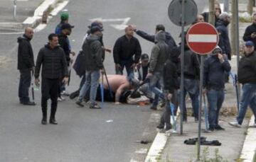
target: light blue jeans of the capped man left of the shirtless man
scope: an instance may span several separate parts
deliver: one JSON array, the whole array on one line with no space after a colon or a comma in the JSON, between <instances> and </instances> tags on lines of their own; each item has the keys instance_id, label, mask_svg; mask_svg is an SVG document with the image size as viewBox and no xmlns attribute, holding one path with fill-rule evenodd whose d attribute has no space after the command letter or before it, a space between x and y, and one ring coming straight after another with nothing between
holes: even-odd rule
<instances>
[{"instance_id":1,"label":"light blue jeans of the capped man left of the shirtless man","mask_svg":"<svg viewBox=\"0 0 256 162\"><path fill-rule=\"evenodd\" d=\"M85 79L86 80L80 90L78 100L82 102L82 99L85 98L85 94L90 88L90 104L94 105L97 95L97 86L99 85L100 71L86 71Z\"/></svg>"}]
</instances>

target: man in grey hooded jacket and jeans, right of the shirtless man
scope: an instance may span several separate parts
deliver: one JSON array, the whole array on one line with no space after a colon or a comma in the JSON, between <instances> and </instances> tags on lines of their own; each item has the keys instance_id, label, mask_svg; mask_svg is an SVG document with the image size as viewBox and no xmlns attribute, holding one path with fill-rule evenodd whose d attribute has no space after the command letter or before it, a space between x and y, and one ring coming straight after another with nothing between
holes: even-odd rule
<instances>
[{"instance_id":1,"label":"man in grey hooded jacket and jeans, right of the shirtless man","mask_svg":"<svg viewBox=\"0 0 256 162\"><path fill-rule=\"evenodd\" d=\"M155 36L155 45L151 50L151 57L149 62L149 73L147 78L149 81L149 89L155 93L155 98L151 106L152 110L156 110L159 102L159 97L164 99L164 94L160 91L161 81L163 80L164 63L166 62L169 54L169 46L165 42L165 33L160 30Z\"/></svg>"}]
</instances>

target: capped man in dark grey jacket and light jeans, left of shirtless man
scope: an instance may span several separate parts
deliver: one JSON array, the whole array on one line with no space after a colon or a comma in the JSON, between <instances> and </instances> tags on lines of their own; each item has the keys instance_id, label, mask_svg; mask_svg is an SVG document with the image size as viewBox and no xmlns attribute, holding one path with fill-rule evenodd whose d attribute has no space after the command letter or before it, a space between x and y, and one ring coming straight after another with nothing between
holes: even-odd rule
<instances>
[{"instance_id":1,"label":"capped man in dark grey jacket and light jeans, left of shirtless man","mask_svg":"<svg viewBox=\"0 0 256 162\"><path fill-rule=\"evenodd\" d=\"M100 72L103 72L103 50L100 37L102 32L99 27L95 26L90 29L91 35L89 35L84 44L82 45L82 51L85 53L85 84L80 90L77 105L83 107L82 99L85 97L86 92L90 88L90 108L100 109L100 106L95 102L97 95L97 86L100 79Z\"/></svg>"}]
</instances>

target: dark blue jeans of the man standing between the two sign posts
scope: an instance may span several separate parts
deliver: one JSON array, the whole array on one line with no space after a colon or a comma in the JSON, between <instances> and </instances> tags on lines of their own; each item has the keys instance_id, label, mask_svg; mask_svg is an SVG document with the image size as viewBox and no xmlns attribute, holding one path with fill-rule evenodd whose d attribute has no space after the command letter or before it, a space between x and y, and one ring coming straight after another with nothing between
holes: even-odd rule
<instances>
[{"instance_id":1,"label":"dark blue jeans of the man standing between the two sign posts","mask_svg":"<svg viewBox=\"0 0 256 162\"><path fill-rule=\"evenodd\" d=\"M195 119L198 120L198 110L199 110L199 85L196 79L184 79L184 90L183 90L183 119L187 119L186 110L186 94L188 93L192 101L193 115ZM181 92L179 92L179 96ZM180 102L181 103L181 102Z\"/></svg>"}]
</instances>

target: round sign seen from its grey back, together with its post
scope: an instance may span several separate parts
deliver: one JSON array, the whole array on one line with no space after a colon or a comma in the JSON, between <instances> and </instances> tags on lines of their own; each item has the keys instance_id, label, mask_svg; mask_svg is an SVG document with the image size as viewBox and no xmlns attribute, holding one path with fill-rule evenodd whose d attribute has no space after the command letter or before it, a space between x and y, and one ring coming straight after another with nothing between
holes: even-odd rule
<instances>
[{"instance_id":1,"label":"round sign seen from its grey back, together with its post","mask_svg":"<svg viewBox=\"0 0 256 162\"><path fill-rule=\"evenodd\" d=\"M180 110L181 127L180 134L183 134L183 94L184 94L184 27L196 20L198 9L193 0L173 0L168 8L168 16L175 25L181 26L181 92L180 92Z\"/></svg>"}]
</instances>

